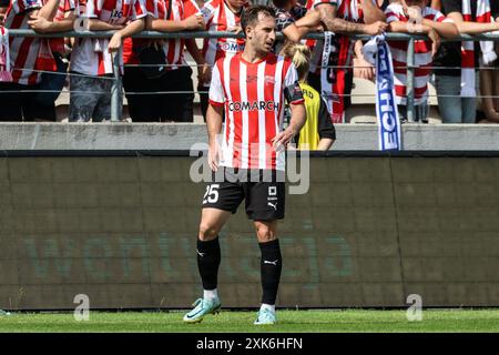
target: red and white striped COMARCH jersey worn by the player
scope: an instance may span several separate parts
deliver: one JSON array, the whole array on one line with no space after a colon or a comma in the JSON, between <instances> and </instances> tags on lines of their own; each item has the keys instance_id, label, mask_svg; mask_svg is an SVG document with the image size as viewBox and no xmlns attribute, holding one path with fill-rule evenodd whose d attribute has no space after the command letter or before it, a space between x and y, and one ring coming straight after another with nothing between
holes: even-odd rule
<instances>
[{"instance_id":1,"label":"red and white striped COMARCH jersey worn by the player","mask_svg":"<svg viewBox=\"0 0 499 355\"><path fill-rule=\"evenodd\" d=\"M289 103L304 102L288 59L268 53L249 63L240 53L216 61L210 103L225 106L221 166L284 171L284 151L271 140L283 129L285 92Z\"/></svg>"}]
</instances>

